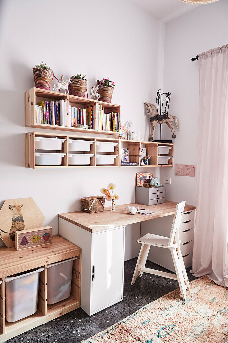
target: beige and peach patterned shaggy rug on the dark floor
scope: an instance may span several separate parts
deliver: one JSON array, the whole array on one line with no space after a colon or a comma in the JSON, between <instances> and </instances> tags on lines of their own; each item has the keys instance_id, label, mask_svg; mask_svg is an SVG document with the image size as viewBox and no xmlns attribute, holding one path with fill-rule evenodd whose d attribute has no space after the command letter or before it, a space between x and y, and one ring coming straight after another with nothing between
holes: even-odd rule
<instances>
[{"instance_id":1,"label":"beige and peach patterned shaggy rug on the dark floor","mask_svg":"<svg viewBox=\"0 0 228 343\"><path fill-rule=\"evenodd\" d=\"M203 276L140 308L84 343L228 343L228 290Z\"/></svg>"}]
</instances>

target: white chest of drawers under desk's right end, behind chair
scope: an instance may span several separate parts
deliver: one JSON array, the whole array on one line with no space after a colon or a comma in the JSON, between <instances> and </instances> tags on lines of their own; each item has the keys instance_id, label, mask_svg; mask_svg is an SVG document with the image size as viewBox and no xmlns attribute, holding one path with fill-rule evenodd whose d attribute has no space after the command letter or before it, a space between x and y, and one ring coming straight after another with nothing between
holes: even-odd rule
<instances>
[{"instance_id":1,"label":"white chest of drawers under desk's right end, behind chair","mask_svg":"<svg viewBox=\"0 0 228 343\"><path fill-rule=\"evenodd\" d=\"M141 222L141 236L147 233L169 237L170 230L173 223L173 215L153 220ZM179 238L181 240L180 250L185 262L185 267L188 268L192 265L192 252L194 244L195 233L195 210L184 212L179 229ZM173 260L169 249L159 247L150 247L148 260L162 267L175 272Z\"/></svg>"}]
</instances>

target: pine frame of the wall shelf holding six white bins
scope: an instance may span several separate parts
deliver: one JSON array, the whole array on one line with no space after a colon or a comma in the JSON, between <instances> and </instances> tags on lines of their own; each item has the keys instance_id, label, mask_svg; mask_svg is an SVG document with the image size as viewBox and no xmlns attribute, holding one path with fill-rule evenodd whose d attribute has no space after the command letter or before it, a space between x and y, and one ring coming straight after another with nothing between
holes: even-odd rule
<instances>
[{"instance_id":1,"label":"pine frame of the wall shelf holding six white bins","mask_svg":"<svg viewBox=\"0 0 228 343\"><path fill-rule=\"evenodd\" d=\"M65 153L66 155L62 158L62 164L61 165L48 165L48 166L41 166L35 164L35 152L36 151L36 137L58 137L66 139L65 142L62 145L62 151L59 151L59 153ZM90 151L85 152L85 154L92 154L93 157L90 158L90 165L69 165L68 162L68 155L69 155L69 140L75 139L75 140L89 140L94 141L93 144L91 144ZM97 156L97 144L96 142L115 142L117 145L114 148L113 153L106 153L107 155L117 155L117 157L114 158L114 164L113 165L96 165L96 156ZM46 132L26 132L25 133L25 167L26 168L101 168L101 167L119 167L119 145L120 140L115 138L102 138L102 137L86 137L86 136L79 136L79 135L62 135L62 134L56 134L56 133L46 133ZM38 152L41 152L41 150L38 150ZM46 152L43 151L43 152ZM50 150L50 152L53 152ZM74 152L72 152L74 153ZM79 153L79 152L78 152ZM83 153L83 152L80 152ZM98 152L98 154L100 154Z\"/></svg>"}]
</instances>

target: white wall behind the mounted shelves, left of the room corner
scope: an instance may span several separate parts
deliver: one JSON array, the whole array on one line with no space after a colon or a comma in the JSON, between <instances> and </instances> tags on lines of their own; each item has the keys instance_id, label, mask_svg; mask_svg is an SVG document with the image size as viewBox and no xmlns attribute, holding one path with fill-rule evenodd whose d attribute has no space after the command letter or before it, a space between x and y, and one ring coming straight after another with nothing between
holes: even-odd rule
<instances>
[{"instance_id":1,"label":"white wall behind the mounted shelves, left of the room corner","mask_svg":"<svg viewBox=\"0 0 228 343\"><path fill-rule=\"evenodd\" d=\"M34 130L24 127L24 92L34 86L32 68L41 61L57 77L86 74L89 90L97 79L110 78L122 124L132 120L132 130L147 140L144 101L152 102L159 88L162 30L125 0L1 1L0 206L33 197L44 225L57 234L58 213L80 210L81 197L100 194L109 182L117 185L118 204L135 200L136 168L24 168L24 132ZM153 173L159 176L159 168Z\"/></svg>"}]
</instances>

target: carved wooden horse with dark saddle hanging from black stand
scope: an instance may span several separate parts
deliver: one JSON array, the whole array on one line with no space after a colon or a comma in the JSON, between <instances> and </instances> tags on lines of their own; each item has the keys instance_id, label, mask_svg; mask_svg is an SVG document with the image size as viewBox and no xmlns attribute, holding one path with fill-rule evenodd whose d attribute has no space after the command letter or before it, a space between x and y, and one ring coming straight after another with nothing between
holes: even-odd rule
<instances>
[{"instance_id":1,"label":"carved wooden horse with dark saddle hanging from black stand","mask_svg":"<svg viewBox=\"0 0 228 343\"><path fill-rule=\"evenodd\" d=\"M156 106L154 106L153 104L146 103L146 102L144 104L147 106L146 113L147 113L147 116L150 115L150 122L151 122L151 134L150 134L149 142L153 141L154 130L157 123L159 124L166 123L168 127L170 128L170 130L172 131L172 137L177 138L176 132L173 126L173 120L175 120L177 130L179 131L177 117L171 116L171 114L169 113L167 114L165 113L160 116L159 114L157 114Z\"/></svg>"}]
</instances>

